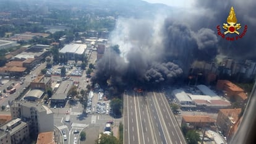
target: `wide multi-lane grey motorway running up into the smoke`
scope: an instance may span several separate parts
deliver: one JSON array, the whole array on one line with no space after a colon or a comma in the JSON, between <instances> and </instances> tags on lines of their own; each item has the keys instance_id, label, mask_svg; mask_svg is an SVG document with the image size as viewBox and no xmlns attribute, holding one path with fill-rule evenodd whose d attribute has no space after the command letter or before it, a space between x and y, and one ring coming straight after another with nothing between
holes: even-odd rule
<instances>
[{"instance_id":1,"label":"wide multi-lane grey motorway running up into the smoke","mask_svg":"<svg viewBox=\"0 0 256 144\"><path fill-rule=\"evenodd\" d=\"M163 93L124 93L124 143L186 143Z\"/></svg>"}]
</instances>

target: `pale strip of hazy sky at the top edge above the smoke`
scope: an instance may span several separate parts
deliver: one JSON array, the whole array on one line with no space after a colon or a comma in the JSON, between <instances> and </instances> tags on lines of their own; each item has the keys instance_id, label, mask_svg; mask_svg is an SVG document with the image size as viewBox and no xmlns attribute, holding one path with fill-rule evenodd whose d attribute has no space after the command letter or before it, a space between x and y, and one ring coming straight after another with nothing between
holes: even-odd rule
<instances>
[{"instance_id":1,"label":"pale strip of hazy sky at the top edge above the smoke","mask_svg":"<svg viewBox=\"0 0 256 144\"><path fill-rule=\"evenodd\" d=\"M191 7L195 0L143 0L150 3L162 3L174 7Z\"/></svg>"}]
</instances>

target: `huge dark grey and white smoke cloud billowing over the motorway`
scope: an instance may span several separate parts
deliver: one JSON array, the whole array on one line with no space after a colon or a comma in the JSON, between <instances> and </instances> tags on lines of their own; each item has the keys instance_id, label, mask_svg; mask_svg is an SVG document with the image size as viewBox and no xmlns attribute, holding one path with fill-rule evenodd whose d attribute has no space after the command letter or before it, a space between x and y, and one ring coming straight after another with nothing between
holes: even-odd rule
<instances>
[{"instance_id":1,"label":"huge dark grey and white smoke cloud billowing over the motorway","mask_svg":"<svg viewBox=\"0 0 256 144\"><path fill-rule=\"evenodd\" d=\"M119 45L121 54L107 49L98 62L93 81L152 86L186 77L194 61L211 61L217 54L255 59L255 3L197 1L194 9L182 9L171 16L119 18L109 41ZM248 26L244 38L237 41L224 40L216 30L217 25L222 27L226 22L231 6L242 30L245 24Z\"/></svg>"}]
</instances>

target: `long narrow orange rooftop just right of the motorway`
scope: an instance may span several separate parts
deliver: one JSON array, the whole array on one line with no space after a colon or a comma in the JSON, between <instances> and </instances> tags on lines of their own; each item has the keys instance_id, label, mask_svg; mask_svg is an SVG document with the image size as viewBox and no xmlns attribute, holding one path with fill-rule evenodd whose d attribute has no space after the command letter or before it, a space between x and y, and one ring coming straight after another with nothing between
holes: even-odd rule
<instances>
[{"instance_id":1,"label":"long narrow orange rooftop just right of the motorway","mask_svg":"<svg viewBox=\"0 0 256 144\"><path fill-rule=\"evenodd\" d=\"M215 122L210 116L183 116L185 122Z\"/></svg>"}]
</instances>

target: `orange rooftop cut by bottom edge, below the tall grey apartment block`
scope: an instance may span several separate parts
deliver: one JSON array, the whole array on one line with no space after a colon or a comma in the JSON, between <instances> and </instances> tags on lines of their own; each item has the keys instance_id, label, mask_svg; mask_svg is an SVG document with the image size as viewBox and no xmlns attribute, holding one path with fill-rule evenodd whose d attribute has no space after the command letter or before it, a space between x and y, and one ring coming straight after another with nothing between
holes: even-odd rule
<instances>
[{"instance_id":1,"label":"orange rooftop cut by bottom edge, below the tall grey apartment block","mask_svg":"<svg viewBox=\"0 0 256 144\"><path fill-rule=\"evenodd\" d=\"M55 144L53 132L41 132L38 134L36 144Z\"/></svg>"}]
</instances>

